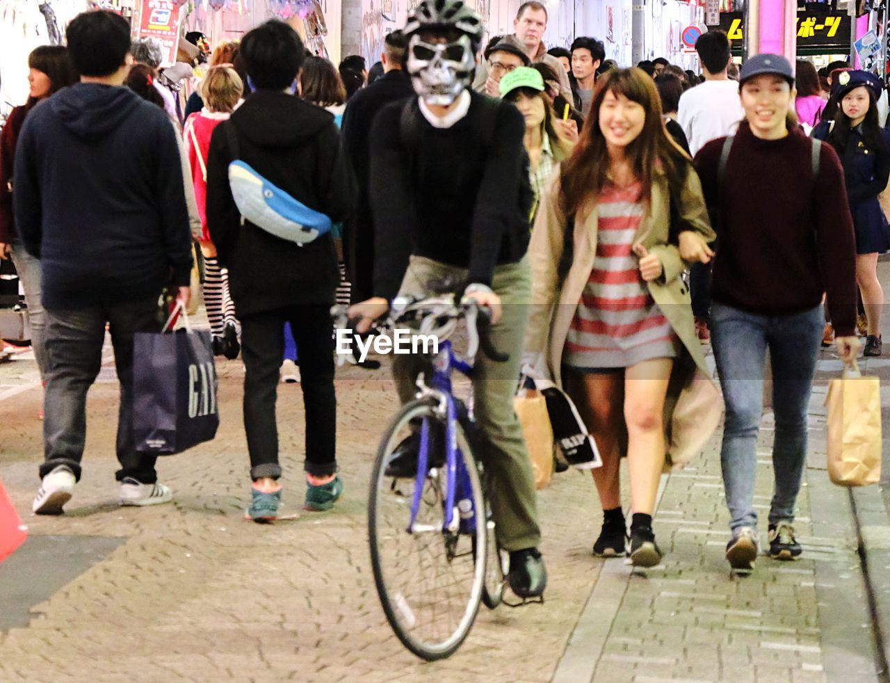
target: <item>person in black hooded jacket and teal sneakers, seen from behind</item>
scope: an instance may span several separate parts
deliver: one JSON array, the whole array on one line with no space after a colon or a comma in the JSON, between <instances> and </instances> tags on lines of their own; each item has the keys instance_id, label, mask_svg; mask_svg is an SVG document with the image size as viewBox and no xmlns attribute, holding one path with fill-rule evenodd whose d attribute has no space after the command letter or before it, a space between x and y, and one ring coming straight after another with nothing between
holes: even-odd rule
<instances>
[{"instance_id":1,"label":"person in black hooded jacket and teal sneakers, seen from behind","mask_svg":"<svg viewBox=\"0 0 890 683\"><path fill-rule=\"evenodd\" d=\"M293 95L303 63L293 28L267 21L241 41L254 93L214 130L207 159L207 227L220 263L229 269L241 319L244 427L254 481L247 516L278 515L281 476L276 386L290 322L300 350L306 411L305 508L331 508L343 492L336 476L334 340L330 306L340 282L330 232L303 246L243 220L232 197L229 165L243 160L282 191L330 217L347 218L355 182L334 117ZM234 136L237 151L231 149Z\"/></svg>"}]
</instances>

